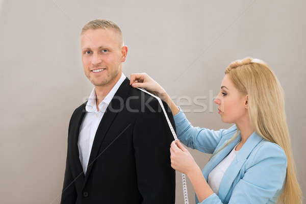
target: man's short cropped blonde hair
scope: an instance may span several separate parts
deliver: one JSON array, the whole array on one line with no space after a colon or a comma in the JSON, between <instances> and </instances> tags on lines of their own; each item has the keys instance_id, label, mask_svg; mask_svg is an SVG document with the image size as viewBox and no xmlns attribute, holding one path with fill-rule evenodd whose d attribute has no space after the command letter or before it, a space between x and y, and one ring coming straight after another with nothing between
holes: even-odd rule
<instances>
[{"instance_id":1,"label":"man's short cropped blonde hair","mask_svg":"<svg viewBox=\"0 0 306 204\"><path fill-rule=\"evenodd\" d=\"M89 21L84 25L81 31L81 35L84 34L87 30L95 30L95 29L113 29L116 33L119 34L121 44L123 45L123 37L122 37L122 32L119 26L111 21L111 20L106 20L106 19L95 19L92 21Z\"/></svg>"}]
</instances>

